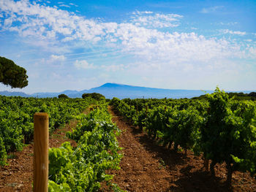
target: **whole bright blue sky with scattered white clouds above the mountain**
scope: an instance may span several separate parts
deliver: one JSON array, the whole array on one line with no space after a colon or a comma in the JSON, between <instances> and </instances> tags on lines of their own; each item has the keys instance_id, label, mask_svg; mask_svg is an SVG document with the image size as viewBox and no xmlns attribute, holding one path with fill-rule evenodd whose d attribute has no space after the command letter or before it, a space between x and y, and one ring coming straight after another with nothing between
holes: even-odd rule
<instances>
[{"instance_id":1,"label":"whole bright blue sky with scattered white clouds above the mountain","mask_svg":"<svg viewBox=\"0 0 256 192\"><path fill-rule=\"evenodd\" d=\"M256 90L256 1L0 0L0 56L60 92L116 82Z\"/></svg>"}]
</instances>

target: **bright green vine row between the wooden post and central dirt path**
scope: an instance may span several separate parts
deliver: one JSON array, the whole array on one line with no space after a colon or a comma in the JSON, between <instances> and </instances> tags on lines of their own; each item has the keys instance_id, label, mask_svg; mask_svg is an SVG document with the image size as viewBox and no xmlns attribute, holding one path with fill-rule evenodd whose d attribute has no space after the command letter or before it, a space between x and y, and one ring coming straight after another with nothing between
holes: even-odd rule
<instances>
[{"instance_id":1,"label":"bright green vine row between the wooden post and central dirt path","mask_svg":"<svg viewBox=\"0 0 256 192\"><path fill-rule=\"evenodd\" d=\"M108 169L119 169L121 154L116 139L118 128L111 122L106 104L100 104L89 115L78 115L78 124L67 137L78 146L65 142L49 150L49 191L97 191L100 182L121 191L109 181Z\"/></svg>"}]
</instances>

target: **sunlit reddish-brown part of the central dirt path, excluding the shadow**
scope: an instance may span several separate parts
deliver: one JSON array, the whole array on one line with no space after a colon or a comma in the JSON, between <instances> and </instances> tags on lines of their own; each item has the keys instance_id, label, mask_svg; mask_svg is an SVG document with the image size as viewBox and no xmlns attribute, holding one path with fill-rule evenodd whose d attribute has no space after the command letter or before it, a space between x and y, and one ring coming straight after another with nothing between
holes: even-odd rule
<instances>
[{"instance_id":1,"label":"sunlit reddish-brown part of the central dirt path, excluding the shadow","mask_svg":"<svg viewBox=\"0 0 256 192\"><path fill-rule=\"evenodd\" d=\"M127 191L168 191L172 178L156 154L146 150L139 141L143 133L137 128L130 128L113 110L110 112L113 123L122 131L118 137L119 146L124 147L121 169L112 172L116 174L113 183Z\"/></svg>"}]
</instances>

